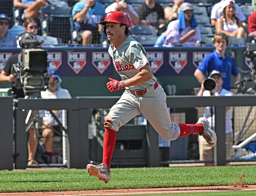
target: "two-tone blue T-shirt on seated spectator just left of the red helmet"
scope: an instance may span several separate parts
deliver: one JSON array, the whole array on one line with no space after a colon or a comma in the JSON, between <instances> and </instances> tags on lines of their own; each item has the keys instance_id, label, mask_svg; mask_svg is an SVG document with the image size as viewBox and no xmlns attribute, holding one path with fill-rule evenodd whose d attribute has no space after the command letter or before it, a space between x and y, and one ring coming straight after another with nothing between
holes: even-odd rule
<instances>
[{"instance_id":1,"label":"two-tone blue T-shirt on seated spectator just left of the red helmet","mask_svg":"<svg viewBox=\"0 0 256 196\"><path fill-rule=\"evenodd\" d=\"M93 8L89 8L83 23L76 22L76 13L83 10L85 1L77 2L72 10L72 17L74 19L75 28L80 30L98 30L99 22L105 18L105 7L99 2L95 2Z\"/></svg>"}]
</instances>

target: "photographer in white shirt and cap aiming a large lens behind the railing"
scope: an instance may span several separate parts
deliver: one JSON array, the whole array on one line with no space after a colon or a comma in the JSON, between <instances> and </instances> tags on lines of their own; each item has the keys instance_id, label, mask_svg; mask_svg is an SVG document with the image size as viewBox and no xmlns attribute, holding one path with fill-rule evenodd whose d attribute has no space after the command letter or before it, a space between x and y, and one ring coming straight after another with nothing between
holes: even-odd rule
<instances>
[{"instance_id":1,"label":"photographer in white shirt and cap aiming a large lens behind the railing","mask_svg":"<svg viewBox=\"0 0 256 196\"><path fill-rule=\"evenodd\" d=\"M232 96L233 92L228 91L222 88L223 79L220 71L213 70L210 75L216 81L216 87L212 91L206 91L204 89L204 81L201 84L201 89L198 92L197 96ZM233 145L233 129L232 129L232 112L233 107L226 107L226 116L225 116L225 133L226 133L226 159L230 160L232 156L232 145ZM210 127L215 129L215 113L214 107L205 107L204 108L204 117L210 122ZM205 142L204 138L198 137L199 144L199 155L200 161L206 161L205 166L213 166L213 163L207 163L207 161L212 161L213 158L213 149ZM227 163L229 165L229 163Z\"/></svg>"}]
</instances>

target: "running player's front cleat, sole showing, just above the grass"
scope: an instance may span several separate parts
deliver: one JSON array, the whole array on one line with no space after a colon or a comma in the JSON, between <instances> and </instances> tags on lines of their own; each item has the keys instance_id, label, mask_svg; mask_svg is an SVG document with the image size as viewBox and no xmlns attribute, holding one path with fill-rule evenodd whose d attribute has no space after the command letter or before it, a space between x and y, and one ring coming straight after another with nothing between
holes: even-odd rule
<instances>
[{"instance_id":1,"label":"running player's front cleat, sole showing, just above the grass","mask_svg":"<svg viewBox=\"0 0 256 196\"><path fill-rule=\"evenodd\" d=\"M99 180L102 180L105 183L108 183L108 181L110 180L111 171L103 163L98 165L88 164L86 166L86 169L90 176L96 176L97 178L99 178Z\"/></svg>"}]
</instances>

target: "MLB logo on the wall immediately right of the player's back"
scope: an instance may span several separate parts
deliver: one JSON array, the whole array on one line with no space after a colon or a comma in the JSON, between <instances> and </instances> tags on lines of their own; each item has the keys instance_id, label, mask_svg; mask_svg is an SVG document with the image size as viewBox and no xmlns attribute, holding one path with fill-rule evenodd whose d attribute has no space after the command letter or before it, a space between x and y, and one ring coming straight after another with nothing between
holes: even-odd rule
<instances>
[{"instance_id":1,"label":"MLB logo on the wall immediately right of the player's back","mask_svg":"<svg viewBox=\"0 0 256 196\"><path fill-rule=\"evenodd\" d=\"M164 62L164 53L163 52L147 52L148 62L152 69L152 72L155 74L156 71L163 65Z\"/></svg>"}]
</instances>

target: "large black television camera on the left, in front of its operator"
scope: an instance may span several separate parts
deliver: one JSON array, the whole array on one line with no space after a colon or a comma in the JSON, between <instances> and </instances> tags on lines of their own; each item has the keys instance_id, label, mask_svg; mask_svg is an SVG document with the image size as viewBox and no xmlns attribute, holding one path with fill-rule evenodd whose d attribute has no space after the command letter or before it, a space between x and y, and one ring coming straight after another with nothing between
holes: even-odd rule
<instances>
[{"instance_id":1,"label":"large black television camera on the left, in front of its operator","mask_svg":"<svg viewBox=\"0 0 256 196\"><path fill-rule=\"evenodd\" d=\"M18 63L12 65L12 72L20 80L25 98L39 98L40 92L46 90L49 81L47 51L41 48L42 43L34 39L31 33L26 33L30 35L25 36L23 34L19 38L21 53Z\"/></svg>"}]
</instances>

